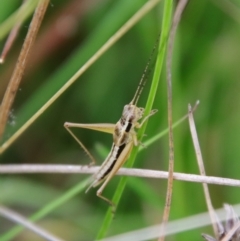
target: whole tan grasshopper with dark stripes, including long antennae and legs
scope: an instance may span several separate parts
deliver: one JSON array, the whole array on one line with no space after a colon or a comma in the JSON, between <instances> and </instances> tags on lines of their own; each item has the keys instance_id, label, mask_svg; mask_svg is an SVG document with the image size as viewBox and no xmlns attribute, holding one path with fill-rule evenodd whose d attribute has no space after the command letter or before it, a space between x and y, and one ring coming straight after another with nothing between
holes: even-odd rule
<instances>
[{"instance_id":1,"label":"whole tan grasshopper with dark stripes, including long antennae and legs","mask_svg":"<svg viewBox=\"0 0 240 241\"><path fill-rule=\"evenodd\" d=\"M103 124L103 123L80 124L80 123L70 123L70 122L64 123L64 127L67 129L67 131L79 143L79 145L84 149L84 151L92 160L90 165L93 165L96 163L94 157L83 145L83 143L75 136L75 134L73 134L70 128L72 127L87 128L91 130L110 133L113 135L113 144L112 144L111 151L106 157L101 167L99 168L99 170L95 174L93 174L92 183L86 190L87 192L90 188L97 187L101 183L103 183L102 186L97 190L96 194L98 197L105 200L111 206L114 206L113 202L108 198L104 197L102 195L102 192L106 187L106 185L108 184L108 182L119 170L119 168L126 162L126 160L128 159L132 151L133 146L138 146L139 144L141 144L137 139L137 133L135 131L135 128L140 129L143 126L144 122L150 116L154 115L157 112L157 110L152 110L150 114L148 114L143 118L144 108L137 107L138 99L142 93L142 90L146 82L144 79L145 79L145 75L146 75L150 60L151 60L151 57L144 70L142 78L140 79L138 88L135 92L135 95L132 101L129 104L124 106L122 116L116 124Z\"/></svg>"}]
</instances>

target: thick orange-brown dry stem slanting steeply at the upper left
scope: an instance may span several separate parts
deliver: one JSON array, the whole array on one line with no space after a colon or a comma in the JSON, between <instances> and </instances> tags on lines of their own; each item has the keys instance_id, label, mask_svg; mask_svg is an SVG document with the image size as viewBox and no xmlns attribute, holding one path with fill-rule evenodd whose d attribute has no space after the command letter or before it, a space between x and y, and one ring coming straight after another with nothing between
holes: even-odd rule
<instances>
[{"instance_id":1,"label":"thick orange-brown dry stem slanting steeply at the upper left","mask_svg":"<svg viewBox=\"0 0 240 241\"><path fill-rule=\"evenodd\" d=\"M25 38L23 47L17 60L16 67L3 97L0 109L0 139L2 138L10 109L12 107L16 93L19 89L19 85L27 65L28 56L38 33L45 11L47 9L48 2L49 0L40 1L36 8L28 34Z\"/></svg>"}]
</instances>

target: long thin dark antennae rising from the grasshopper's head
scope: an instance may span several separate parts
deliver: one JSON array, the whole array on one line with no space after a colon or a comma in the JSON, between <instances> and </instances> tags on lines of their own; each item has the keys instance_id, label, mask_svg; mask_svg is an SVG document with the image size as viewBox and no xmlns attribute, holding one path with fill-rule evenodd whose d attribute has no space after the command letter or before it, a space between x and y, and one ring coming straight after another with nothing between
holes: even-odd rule
<instances>
[{"instance_id":1,"label":"long thin dark antennae rising from the grasshopper's head","mask_svg":"<svg viewBox=\"0 0 240 241\"><path fill-rule=\"evenodd\" d=\"M158 44L159 38L160 38L160 35L158 36L157 41L156 41L156 43L155 43L155 45L154 45L154 47L152 49L151 55L150 55L150 57L148 59L147 65L146 65L146 67L145 67L145 69L143 71L143 75L142 75L142 77L141 77L141 79L139 81L139 84L138 84L137 90L135 92L135 95L134 95L132 101L130 102L133 105L137 104L138 99L139 99L139 97L140 97L140 95L141 95L141 93L143 91L143 88L144 88L146 82L147 82L147 79L148 79L147 77L148 77L148 74L149 74L149 72L148 72L149 65L150 65L150 63L152 61L153 54L154 54L154 52L155 52L155 50L157 48L157 44Z\"/></svg>"}]
</instances>

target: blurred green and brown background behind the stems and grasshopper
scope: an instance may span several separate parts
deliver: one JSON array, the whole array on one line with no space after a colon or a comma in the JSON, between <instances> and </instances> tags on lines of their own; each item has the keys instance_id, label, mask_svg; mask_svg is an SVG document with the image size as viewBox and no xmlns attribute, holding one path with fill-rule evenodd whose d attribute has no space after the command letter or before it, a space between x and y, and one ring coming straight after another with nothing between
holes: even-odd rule
<instances>
[{"instance_id":1,"label":"blurred green and brown background behind the stems and grasshopper","mask_svg":"<svg viewBox=\"0 0 240 241\"><path fill-rule=\"evenodd\" d=\"M143 0L51 1L4 139L34 114L144 3ZM238 179L240 15L237 13L240 3L226 3L192 0L184 11L173 56L173 116L175 121L178 120L187 113L188 103L200 100L195 121L206 172L211 176ZM18 7L17 0L1 2L0 21L7 19ZM163 3L143 17L92 65L3 153L1 163L87 164L87 156L63 128L63 123L115 123L119 119L123 106L135 93L161 31L162 9ZM0 66L1 96L11 77L29 23L30 19L24 22L5 64ZM4 40L0 44L2 48ZM144 140L167 128L165 68L163 72L154 103L159 112L150 119ZM145 105L149 86L148 82L140 106ZM101 164L104 160L102 149L110 149L111 135L82 129L74 130L74 133ZM174 145L175 171L197 174L187 121L174 130ZM135 167L167 170L168 137L138 155ZM85 177L77 174L2 175L0 202L29 216ZM112 196L118 181L119 177L114 177L104 190L105 196ZM166 184L166 180L129 178L108 235L159 223ZM237 188L216 185L209 188L215 208L222 207L223 203L239 203ZM65 240L93 240L107 210L106 203L97 198L95 192L92 189L87 194L79 193L38 223ZM174 182L171 220L205 211L200 184ZM11 227L11 222L0 218L0 235ZM201 232L211 233L212 230L192 230L167 240L202 240ZM25 231L14 240L42 240L31 235Z\"/></svg>"}]
</instances>

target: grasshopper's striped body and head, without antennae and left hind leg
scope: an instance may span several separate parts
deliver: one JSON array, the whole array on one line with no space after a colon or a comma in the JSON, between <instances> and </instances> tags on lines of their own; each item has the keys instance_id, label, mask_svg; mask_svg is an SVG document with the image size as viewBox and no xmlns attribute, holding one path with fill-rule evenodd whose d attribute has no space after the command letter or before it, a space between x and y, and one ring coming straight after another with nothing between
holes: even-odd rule
<instances>
[{"instance_id":1,"label":"grasshopper's striped body and head, without antennae and left hind leg","mask_svg":"<svg viewBox=\"0 0 240 241\"><path fill-rule=\"evenodd\" d=\"M157 110L153 110L144 120L139 124L139 120L143 117L144 108L139 108L136 105L125 105L120 120L116 123L113 132L113 144L110 153L99 168L99 170L92 176L92 183L86 192L92 188L97 187L102 182L104 184L97 191L97 195L107 201L109 204L113 203L101 195L103 189L112 175L125 163L133 148L133 145L139 144L137 140L136 131L134 128L140 128L145 120L151 115L155 114Z\"/></svg>"}]
</instances>

